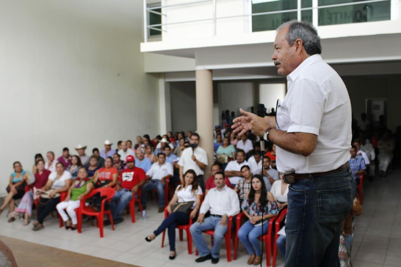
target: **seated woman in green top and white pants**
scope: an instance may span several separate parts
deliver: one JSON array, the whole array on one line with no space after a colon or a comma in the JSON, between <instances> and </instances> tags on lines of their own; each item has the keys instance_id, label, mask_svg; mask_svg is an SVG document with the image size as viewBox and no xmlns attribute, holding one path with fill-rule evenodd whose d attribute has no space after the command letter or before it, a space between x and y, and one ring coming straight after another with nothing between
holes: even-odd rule
<instances>
[{"instance_id":1,"label":"seated woman in green top and white pants","mask_svg":"<svg viewBox=\"0 0 401 267\"><path fill-rule=\"evenodd\" d=\"M78 178L68 189L67 197L56 205L57 212L63 218L67 230L77 230L78 221L75 209L79 208L81 199L93 189L93 180L87 180L87 177L86 169L84 167L79 168Z\"/></svg>"}]
</instances>

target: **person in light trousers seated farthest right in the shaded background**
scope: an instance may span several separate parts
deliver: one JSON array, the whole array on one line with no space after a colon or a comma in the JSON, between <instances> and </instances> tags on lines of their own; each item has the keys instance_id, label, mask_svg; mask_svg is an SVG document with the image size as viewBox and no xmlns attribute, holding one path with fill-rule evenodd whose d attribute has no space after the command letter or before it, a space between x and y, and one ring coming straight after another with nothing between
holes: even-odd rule
<instances>
[{"instance_id":1,"label":"person in light trousers seated farthest right in the shaded background","mask_svg":"<svg viewBox=\"0 0 401 267\"><path fill-rule=\"evenodd\" d=\"M383 138L377 143L377 148L379 149L377 160L379 160L380 176L385 177L387 168L389 168L389 165L393 161L393 151L395 148L395 142L391 138L389 130L383 133Z\"/></svg>"}]
</instances>

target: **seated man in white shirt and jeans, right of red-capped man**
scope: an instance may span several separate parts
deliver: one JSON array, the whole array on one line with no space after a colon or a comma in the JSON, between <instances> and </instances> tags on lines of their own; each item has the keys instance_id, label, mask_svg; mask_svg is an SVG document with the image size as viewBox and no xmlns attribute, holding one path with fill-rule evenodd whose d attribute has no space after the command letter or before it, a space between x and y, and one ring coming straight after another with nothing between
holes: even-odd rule
<instances>
[{"instance_id":1,"label":"seated man in white shirt and jeans, right of red-capped man","mask_svg":"<svg viewBox=\"0 0 401 267\"><path fill-rule=\"evenodd\" d=\"M157 189L157 195L159 198L159 210L158 212L164 211L165 200L164 200L164 187L166 186L166 179L173 175L173 166L166 162L166 155L164 153L159 153L157 155L158 162L152 164L150 170L146 172L146 180L148 182L142 186L142 208L146 209L146 197L148 192L152 192Z\"/></svg>"}]
</instances>

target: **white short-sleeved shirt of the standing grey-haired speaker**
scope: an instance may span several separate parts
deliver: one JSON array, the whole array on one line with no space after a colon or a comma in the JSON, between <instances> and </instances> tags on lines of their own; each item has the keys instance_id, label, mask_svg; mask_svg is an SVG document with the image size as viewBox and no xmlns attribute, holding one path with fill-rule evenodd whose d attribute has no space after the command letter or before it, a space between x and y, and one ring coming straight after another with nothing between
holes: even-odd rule
<instances>
[{"instance_id":1,"label":"white short-sleeved shirt of the standing grey-haired speaker","mask_svg":"<svg viewBox=\"0 0 401 267\"><path fill-rule=\"evenodd\" d=\"M351 102L340 76L313 55L287 76L288 92L277 105L277 129L316 134L308 157L276 147L277 170L285 174L334 170L350 158Z\"/></svg>"}]
</instances>

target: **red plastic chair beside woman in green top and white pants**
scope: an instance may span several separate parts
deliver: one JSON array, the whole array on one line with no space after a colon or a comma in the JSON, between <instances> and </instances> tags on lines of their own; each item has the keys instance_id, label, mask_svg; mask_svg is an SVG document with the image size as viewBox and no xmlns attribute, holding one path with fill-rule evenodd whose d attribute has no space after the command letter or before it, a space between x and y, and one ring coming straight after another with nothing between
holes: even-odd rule
<instances>
[{"instance_id":1,"label":"red plastic chair beside woman in green top and white pants","mask_svg":"<svg viewBox=\"0 0 401 267\"><path fill-rule=\"evenodd\" d=\"M88 198L93 197L95 194L99 193L100 196L105 196L101 202L101 210L99 212L95 212L91 209L90 206L85 206L85 202ZM109 187L101 187L92 190L89 194L84 196L81 200L81 204L79 208L76 209L77 218L78 218L78 233L82 232L82 215L88 216L96 216L97 219L97 227L99 227L100 237L103 237L103 218L104 214L107 214L111 223L111 229L114 231L114 223L113 223L113 216L111 216L111 210L104 210L104 203L109 201L114 196L115 190Z\"/></svg>"}]
</instances>

